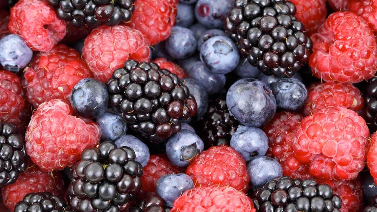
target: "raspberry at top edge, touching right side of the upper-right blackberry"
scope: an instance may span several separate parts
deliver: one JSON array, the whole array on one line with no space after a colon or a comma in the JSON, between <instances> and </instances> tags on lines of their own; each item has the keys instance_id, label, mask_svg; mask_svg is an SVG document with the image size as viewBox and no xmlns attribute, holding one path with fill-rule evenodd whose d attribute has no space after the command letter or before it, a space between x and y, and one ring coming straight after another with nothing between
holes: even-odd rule
<instances>
[{"instance_id":1,"label":"raspberry at top edge, touching right side of the upper-right blackberry","mask_svg":"<svg viewBox=\"0 0 377 212\"><path fill-rule=\"evenodd\" d=\"M296 5L296 18L308 35L316 33L327 17L326 0L291 0Z\"/></svg>"}]
</instances>

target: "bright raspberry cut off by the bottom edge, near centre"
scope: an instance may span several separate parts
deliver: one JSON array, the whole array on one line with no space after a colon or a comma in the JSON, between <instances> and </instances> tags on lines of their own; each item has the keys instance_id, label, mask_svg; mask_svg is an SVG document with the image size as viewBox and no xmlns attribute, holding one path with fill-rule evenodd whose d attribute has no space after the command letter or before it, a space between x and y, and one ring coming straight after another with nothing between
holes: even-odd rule
<instances>
[{"instance_id":1,"label":"bright raspberry cut off by the bottom edge, near centre","mask_svg":"<svg viewBox=\"0 0 377 212\"><path fill-rule=\"evenodd\" d=\"M172 212L256 212L253 202L232 187L195 187L176 198Z\"/></svg>"}]
</instances>

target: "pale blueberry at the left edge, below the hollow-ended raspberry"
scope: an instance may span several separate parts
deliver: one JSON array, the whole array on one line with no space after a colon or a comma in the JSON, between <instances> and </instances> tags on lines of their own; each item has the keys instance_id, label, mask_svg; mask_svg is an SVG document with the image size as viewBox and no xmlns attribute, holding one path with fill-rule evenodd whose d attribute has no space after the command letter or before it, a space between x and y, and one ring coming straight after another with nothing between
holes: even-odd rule
<instances>
[{"instance_id":1,"label":"pale blueberry at the left edge, below the hollow-ended raspberry","mask_svg":"<svg viewBox=\"0 0 377 212\"><path fill-rule=\"evenodd\" d=\"M31 60L33 51L18 35L6 35L0 40L0 63L9 71L18 72Z\"/></svg>"}]
</instances>

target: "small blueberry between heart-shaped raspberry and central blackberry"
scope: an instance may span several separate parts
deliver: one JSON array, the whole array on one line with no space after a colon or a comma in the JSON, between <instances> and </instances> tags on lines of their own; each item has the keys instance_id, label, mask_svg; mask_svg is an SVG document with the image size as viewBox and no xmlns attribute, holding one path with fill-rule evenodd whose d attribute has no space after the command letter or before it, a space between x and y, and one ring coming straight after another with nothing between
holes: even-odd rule
<instances>
[{"instance_id":1,"label":"small blueberry between heart-shaped raspberry and central blackberry","mask_svg":"<svg viewBox=\"0 0 377 212\"><path fill-rule=\"evenodd\" d=\"M115 141L127 132L127 124L118 114L105 112L96 122L101 128L101 141Z\"/></svg>"}]
</instances>

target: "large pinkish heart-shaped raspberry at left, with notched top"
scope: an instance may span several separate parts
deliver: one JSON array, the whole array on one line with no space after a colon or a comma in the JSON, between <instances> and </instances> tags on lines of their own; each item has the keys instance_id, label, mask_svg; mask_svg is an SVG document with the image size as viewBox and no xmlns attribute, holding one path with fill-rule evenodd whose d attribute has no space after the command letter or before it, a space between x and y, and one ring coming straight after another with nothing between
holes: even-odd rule
<instances>
[{"instance_id":1,"label":"large pinkish heart-shaped raspberry at left, with notched top","mask_svg":"<svg viewBox=\"0 0 377 212\"><path fill-rule=\"evenodd\" d=\"M26 153L42 171L62 170L79 160L85 149L97 146L100 137L97 123L75 117L70 104L52 99L31 117Z\"/></svg>"}]
</instances>

